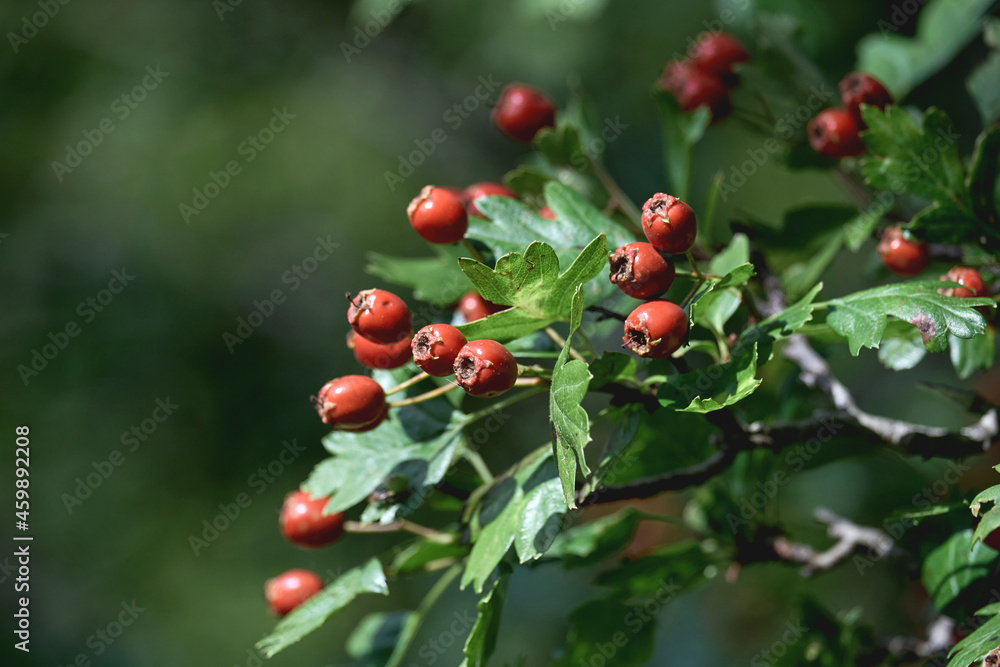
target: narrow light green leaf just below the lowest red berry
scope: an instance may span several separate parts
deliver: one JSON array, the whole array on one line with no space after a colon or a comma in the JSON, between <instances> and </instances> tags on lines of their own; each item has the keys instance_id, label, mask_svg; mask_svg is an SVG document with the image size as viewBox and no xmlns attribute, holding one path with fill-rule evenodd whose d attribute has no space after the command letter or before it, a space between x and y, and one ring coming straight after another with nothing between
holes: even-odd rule
<instances>
[{"instance_id":1,"label":"narrow light green leaf just below the lowest red berry","mask_svg":"<svg viewBox=\"0 0 1000 667\"><path fill-rule=\"evenodd\" d=\"M389 594L385 574L377 558L348 570L332 584L296 607L278 622L270 635L257 642L256 648L268 658L274 657L323 625L332 614L364 593Z\"/></svg>"}]
</instances>

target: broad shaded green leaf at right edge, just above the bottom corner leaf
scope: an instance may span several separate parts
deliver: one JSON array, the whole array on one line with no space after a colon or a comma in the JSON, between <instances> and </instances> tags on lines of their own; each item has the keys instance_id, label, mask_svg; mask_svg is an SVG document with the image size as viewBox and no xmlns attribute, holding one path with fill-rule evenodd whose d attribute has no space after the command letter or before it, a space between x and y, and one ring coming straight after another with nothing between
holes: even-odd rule
<instances>
[{"instance_id":1,"label":"broad shaded green leaf at right edge, just above the bottom corner leaf","mask_svg":"<svg viewBox=\"0 0 1000 667\"><path fill-rule=\"evenodd\" d=\"M1000 556L982 543L973 543L972 531L955 533L924 559L921 581L944 612L973 582L988 576Z\"/></svg>"}]
</instances>

